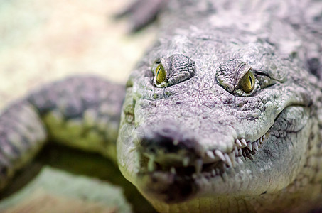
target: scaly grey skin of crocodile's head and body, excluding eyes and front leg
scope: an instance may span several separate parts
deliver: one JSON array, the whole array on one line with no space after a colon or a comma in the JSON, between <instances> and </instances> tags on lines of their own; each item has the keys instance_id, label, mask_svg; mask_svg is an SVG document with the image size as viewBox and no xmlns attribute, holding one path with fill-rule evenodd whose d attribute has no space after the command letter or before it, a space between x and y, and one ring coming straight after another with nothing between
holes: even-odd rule
<instances>
[{"instance_id":1,"label":"scaly grey skin of crocodile's head and body, excluding eyes and front leg","mask_svg":"<svg viewBox=\"0 0 322 213\"><path fill-rule=\"evenodd\" d=\"M321 4L198 2L171 3L129 78L123 175L159 212L322 207L321 82L308 63L321 60L322 34L306 13ZM156 61L176 83L155 83ZM238 84L245 67L255 75L248 93Z\"/></svg>"}]
</instances>

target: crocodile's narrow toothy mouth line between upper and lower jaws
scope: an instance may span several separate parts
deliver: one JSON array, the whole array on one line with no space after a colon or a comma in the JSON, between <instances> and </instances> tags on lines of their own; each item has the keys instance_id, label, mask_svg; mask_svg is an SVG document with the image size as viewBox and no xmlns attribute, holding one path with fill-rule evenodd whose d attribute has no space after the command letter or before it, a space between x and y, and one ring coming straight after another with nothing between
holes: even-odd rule
<instances>
[{"instance_id":1,"label":"crocodile's narrow toothy mouth line between upper and lower jaws","mask_svg":"<svg viewBox=\"0 0 322 213\"><path fill-rule=\"evenodd\" d=\"M261 136L256 141L246 141L245 138L235 140L234 148L230 153L222 153L219 150L208 150L203 158L194 158L186 156L181 163L161 163L153 155L141 155L140 174L147 173L169 173L182 179L197 179L202 175L205 178L212 178L223 175L229 168L235 168L244 160L253 160L253 155L259 151L264 143L268 133Z\"/></svg>"}]
</instances>

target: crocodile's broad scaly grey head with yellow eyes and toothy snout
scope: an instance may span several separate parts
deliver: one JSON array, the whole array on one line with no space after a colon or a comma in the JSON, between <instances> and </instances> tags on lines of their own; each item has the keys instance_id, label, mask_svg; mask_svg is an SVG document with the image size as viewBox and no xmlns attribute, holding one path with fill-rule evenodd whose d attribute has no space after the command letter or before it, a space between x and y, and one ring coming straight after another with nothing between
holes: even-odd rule
<instances>
[{"instance_id":1,"label":"crocodile's broad scaly grey head with yellow eyes and toothy snout","mask_svg":"<svg viewBox=\"0 0 322 213\"><path fill-rule=\"evenodd\" d=\"M310 94L308 73L269 43L181 32L127 82L119 168L163 212L274 194L306 163Z\"/></svg>"}]
</instances>

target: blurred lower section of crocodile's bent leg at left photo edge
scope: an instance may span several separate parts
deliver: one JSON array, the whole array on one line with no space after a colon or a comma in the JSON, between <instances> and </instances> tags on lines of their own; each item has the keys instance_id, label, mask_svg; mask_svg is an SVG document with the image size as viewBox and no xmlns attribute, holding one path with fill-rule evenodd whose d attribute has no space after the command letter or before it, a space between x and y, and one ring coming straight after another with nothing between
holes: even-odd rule
<instances>
[{"instance_id":1,"label":"blurred lower section of crocodile's bent leg at left photo edge","mask_svg":"<svg viewBox=\"0 0 322 213\"><path fill-rule=\"evenodd\" d=\"M0 189L45 143L47 133L38 111L26 101L11 104L0 115Z\"/></svg>"}]
</instances>

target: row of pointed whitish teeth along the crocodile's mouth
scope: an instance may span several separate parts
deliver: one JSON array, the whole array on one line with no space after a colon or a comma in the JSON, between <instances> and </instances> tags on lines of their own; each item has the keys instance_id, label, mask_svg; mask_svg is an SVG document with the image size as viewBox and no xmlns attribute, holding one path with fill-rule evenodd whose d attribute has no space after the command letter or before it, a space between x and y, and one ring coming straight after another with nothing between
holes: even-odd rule
<instances>
[{"instance_id":1,"label":"row of pointed whitish teeth along the crocodile's mouth","mask_svg":"<svg viewBox=\"0 0 322 213\"><path fill-rule=\"evenodd\" d=\"M222 160L225 165L229 165L230 168L234 167L236 165L235 158L244 156L247 157L247 155L250 154L250 151L258 151L259 146L262 145L264 138L266 136L260 137L257 141L250 142L245 140L245 138L241 139L236 139L235 140L235 148L232 150L231 153L222 153L219 150L214 150L214 151L206 151L206 155L208 158L212 160ZM246 149L243 149L247 147ZM183 158L183 166L187 167L190 163L190 159L188 157ZM203 160L198 159L195 160L195 173L199 174L201 173L201 170L203 169ZM154 158L149 158L149 163L148 163L148 170L153 171L154 168ZM171 173L176 173L176 168L171 167L170 169Z\"/></svg>"}]
</instances>

